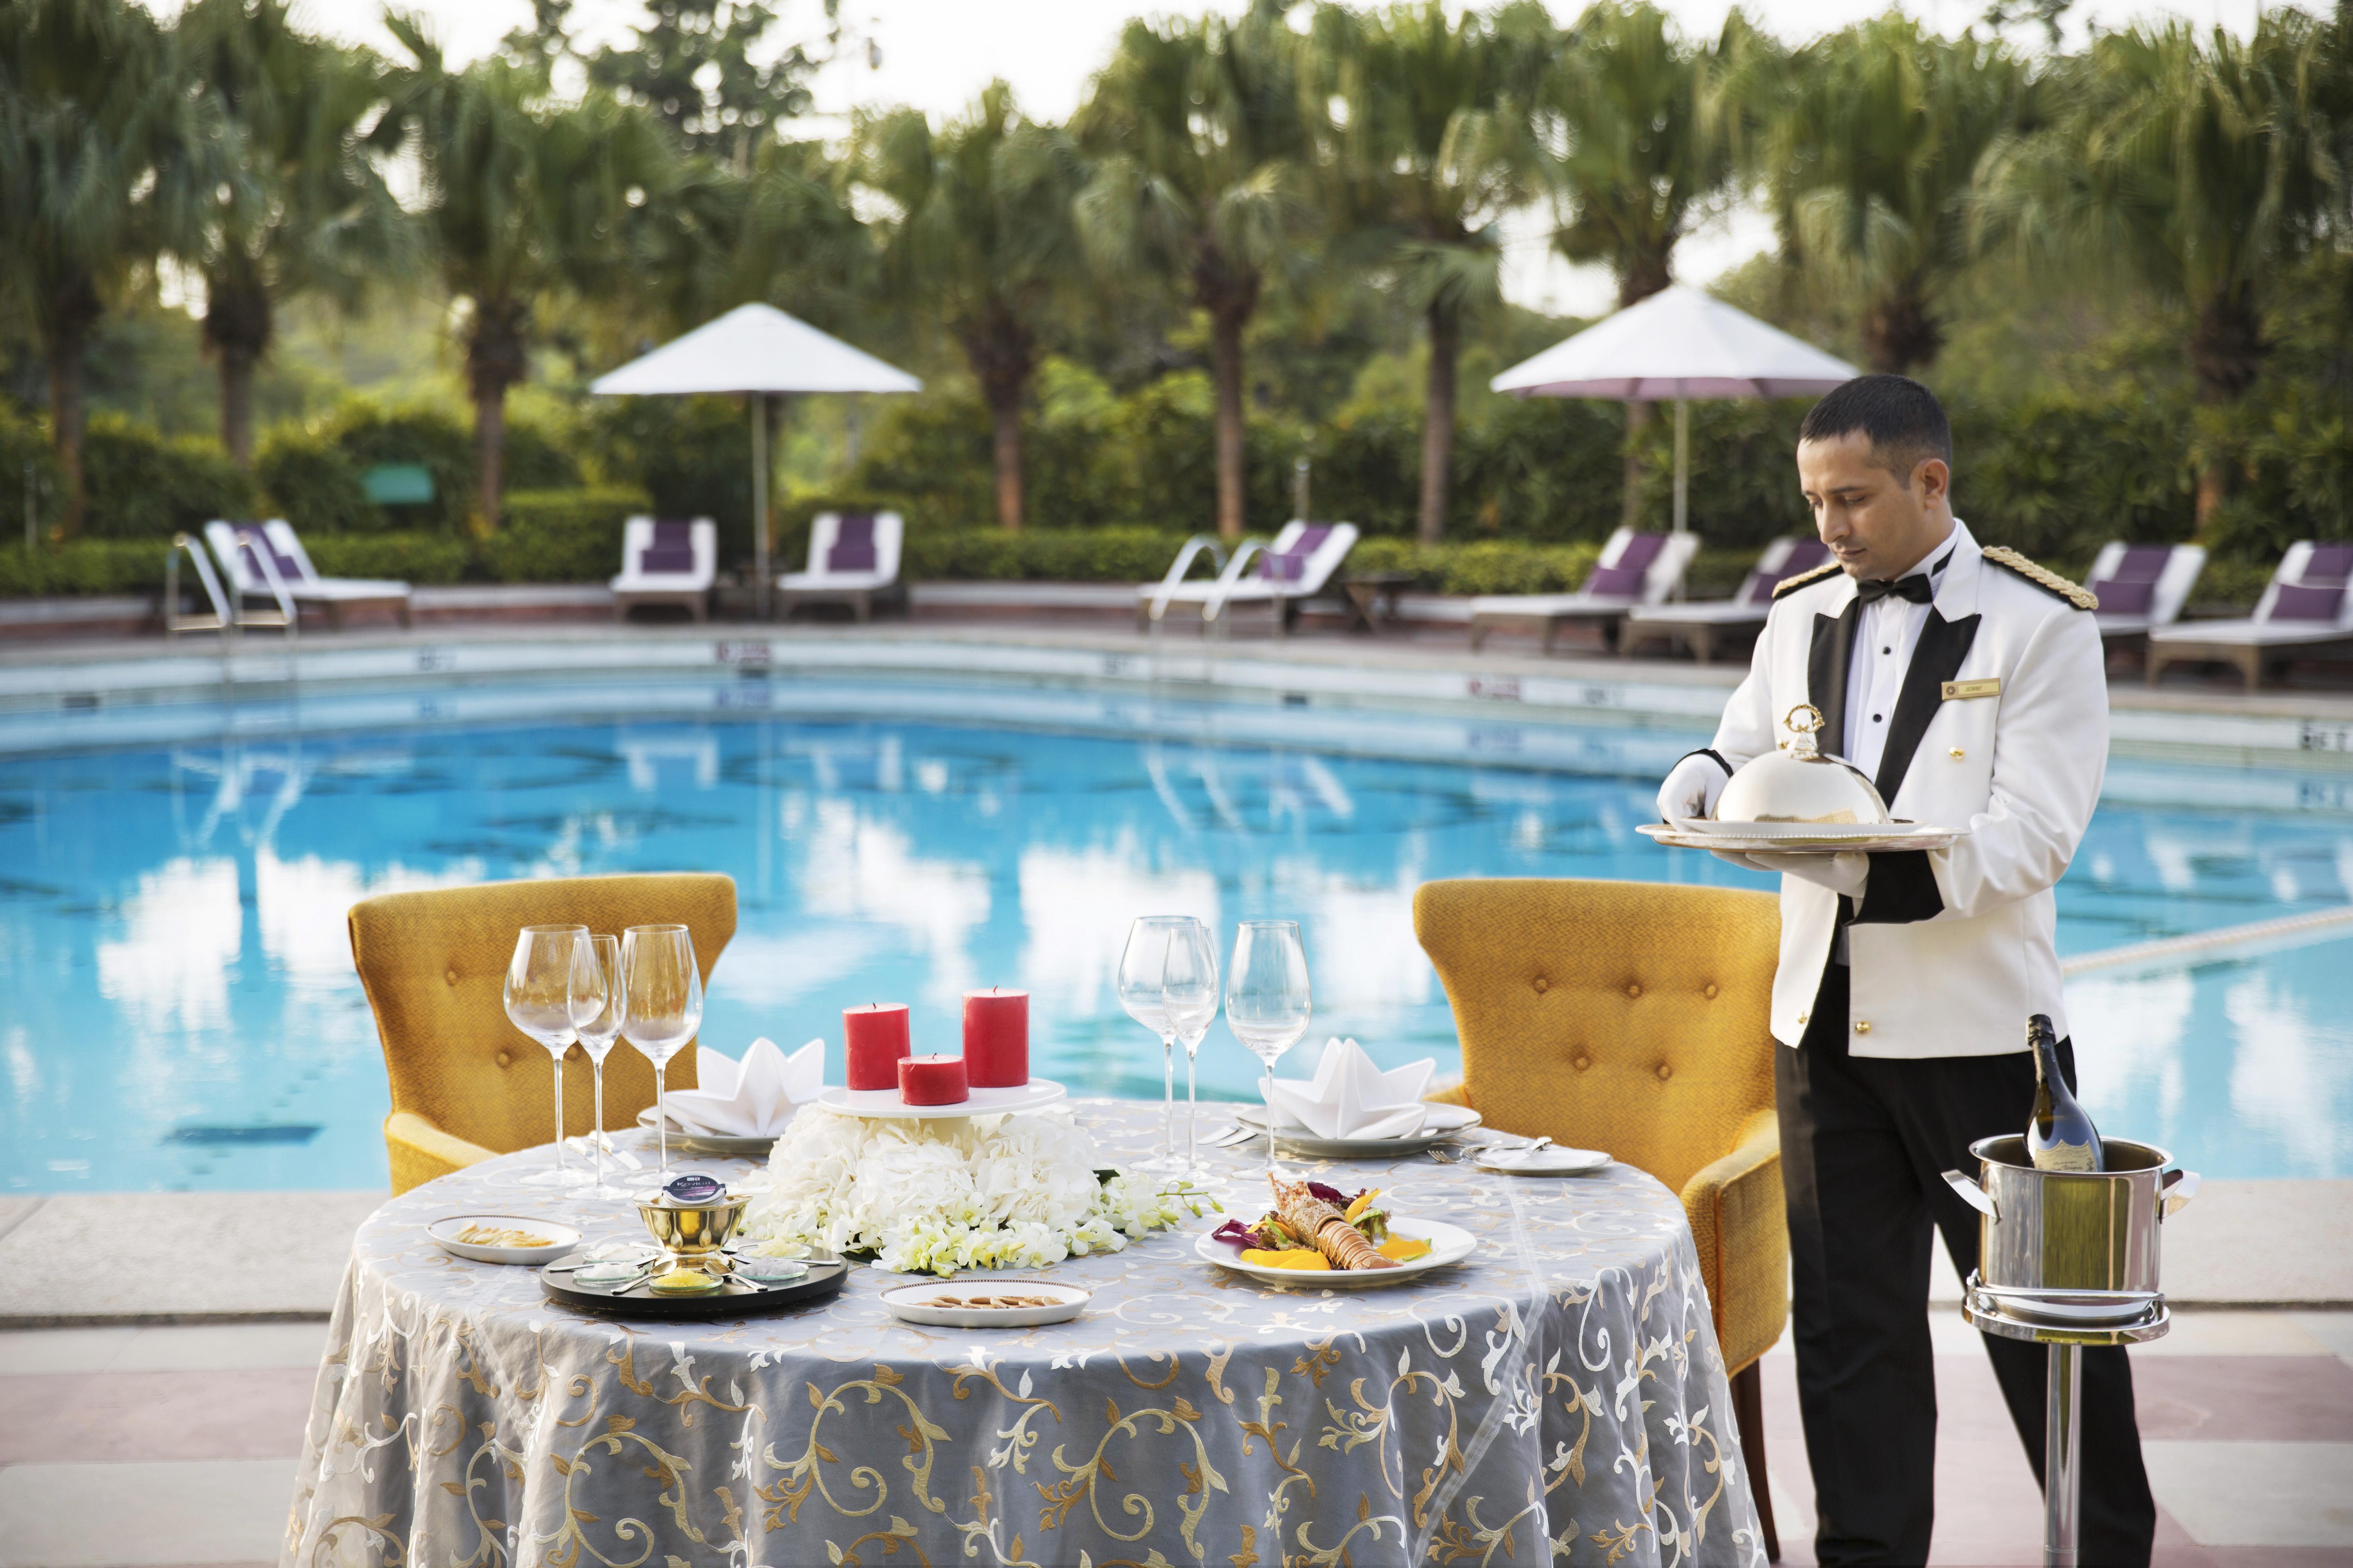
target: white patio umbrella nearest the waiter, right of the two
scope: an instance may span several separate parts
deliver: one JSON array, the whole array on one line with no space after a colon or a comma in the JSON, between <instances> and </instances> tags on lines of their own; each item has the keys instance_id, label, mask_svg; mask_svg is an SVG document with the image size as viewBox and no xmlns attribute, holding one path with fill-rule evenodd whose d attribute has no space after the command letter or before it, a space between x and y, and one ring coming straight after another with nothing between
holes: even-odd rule
<instances>
[{"instance_id":1,"label":"white patio umbrella nearest the waiter, right of the two","mask_svg":"<svg viewBox=\"0 0 2353 1568\"><path fill-rule=\"evenodd\" d=\"M1678 282L1513 364L1489 386L1518 397L1673 402L1675 531L1682 534L1692 489L1692 397L1805 397L1857 376L1861 371L1845 360Z\"/></svg>"}]
</instances>

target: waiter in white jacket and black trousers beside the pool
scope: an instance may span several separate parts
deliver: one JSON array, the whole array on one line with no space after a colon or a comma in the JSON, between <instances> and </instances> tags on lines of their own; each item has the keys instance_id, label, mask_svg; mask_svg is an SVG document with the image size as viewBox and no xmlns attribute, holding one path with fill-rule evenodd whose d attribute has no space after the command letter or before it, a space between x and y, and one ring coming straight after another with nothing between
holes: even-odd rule
<instances>
[{"instance_id":1,"label":"waiter in white jacket and black trousers beside the pool","mask_svg":"<svg viewBox=\"0 0 2353 1568\"><path fill-rule=\"evenodd\" d=\"M1675 764L1661 818L1713 816L1725 780L1812 703L1821 750L1951 849L1725 856L1781 872L1774 1091L1795 1286L1798 1403L1819 1561L1925 1563L1934 1523L1932 1225L1977 1267L1977 1211L1939 1178L2033 1105L2028 1013L2068 1034L2052 884L2108 762L2092 595L1984 550L1951 505L1944 409L1861 376L1807 414L1798 480L1833 562L1774 592L1715 745ZM2073 1041L2059 1058L2075 1074ZM1986 1338L2035 1474L2042 1347ZM2082 1356L2085 1563L2148 1563L2155 1502L2122 1349Z\"/></svg>"}]
</instances>

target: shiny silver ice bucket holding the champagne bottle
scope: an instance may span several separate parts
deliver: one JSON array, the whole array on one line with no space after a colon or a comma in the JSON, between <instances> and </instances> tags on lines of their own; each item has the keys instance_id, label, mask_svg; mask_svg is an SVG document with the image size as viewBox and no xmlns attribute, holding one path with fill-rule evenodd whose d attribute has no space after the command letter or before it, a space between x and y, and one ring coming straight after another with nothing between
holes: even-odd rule
<instances>
[{"instance_id":1,"label":"shiny silver ice bucket holding the champagne bottle","mask_svg":"<svg viewBox=\"0 0 2353 1568\"><path fill-rule=\"evenodd\" d=\"M2198 1192L2148 1143L2104 1138L2106 1171L2035 1171L2019 1135L1969 1145L1977 1180L1944 1180L1977 1213L1986 1307L2042 1324L2122 1324L2160 1300L2158 1225Z\"/></svg>"}]
</instances>

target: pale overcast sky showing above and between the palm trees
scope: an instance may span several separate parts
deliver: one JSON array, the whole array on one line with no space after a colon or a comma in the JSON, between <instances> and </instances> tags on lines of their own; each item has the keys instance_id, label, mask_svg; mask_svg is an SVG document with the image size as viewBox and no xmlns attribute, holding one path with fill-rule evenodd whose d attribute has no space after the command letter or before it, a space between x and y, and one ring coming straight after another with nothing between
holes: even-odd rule
<instances>
[{"instance_id":1,"label":"pale overcast sky showing above and between the palm trees","mask_svg":"<svg viewBox=\"0 0 2353 1568\"><path fill-rule=\"evenodd\" d=\"M1715 33L1729 5L1725 0L1661 0L1692 33ZM2245 33L2254 26L2259 0L2078 0L2068 19L2071 42L2085 26L2125 26L2129 21L2179 14L2198 24L2219 24ZM1555 16L1572 19L1581 0L1546 0ZM169 9L169 5L158 5ZM299 0L308 26L339 38L365 40L381 49L393 42L379 26L381 0ZM426 16L452 61L466 61L496 47L513 28L532 19L529 0L402 0L402 9ZM784 0L786 26L819 26L816 0ZM1014 85L1021 106L1042 118L1068 115L1087 89L1087 78L1104 63L1120 24L1141 12L1200 9L1238 12L1240 0L1193 0L1179 7L1134 5L1129 0L842 0L842 24L854 40L840 61L816 85L819 108L847 115L861 103L915 103L932 113L955 113L991 80ZM1788 40L1875 16L1887 0L1748 0L1751 19ZM1958 33L1984 14L1984 0L1913 0L1904 9L1937 31ZM576 0L574 26L588 40L619 40L642 16L638 0ZM880 52L880 66L868 66L866 42ZM1527 223L1513 233L1506 292L1525 306L1555 313L1595 315L1607 308L1609 280L1598 268L1567 268L1548 256L1541 226ZM1678 273L1687 282L1706 282L1772 244L1772 228L1755 212L1737 212L1711 233L1685 240Z\"/></svg>"}]
</instances>

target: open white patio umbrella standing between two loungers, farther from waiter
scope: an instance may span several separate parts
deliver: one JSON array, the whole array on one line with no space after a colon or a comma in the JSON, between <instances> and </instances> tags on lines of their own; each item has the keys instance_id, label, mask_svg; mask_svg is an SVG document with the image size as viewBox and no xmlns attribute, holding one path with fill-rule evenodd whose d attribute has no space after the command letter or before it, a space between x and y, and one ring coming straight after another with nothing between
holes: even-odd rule
<instances>
[{"instance_id":1,"label":"open white patio umbrella standing between two loungers, farther from waiter","mask_svg":"<svg viewBox=\"0 0 2353 1568\"><path fill-rule=\"evenodd\" d=\"M588 390L621 397L751 395L753 571L760 581L755 604L765 621L774 585L767 569L767 395L920 393L922 381L774 306L736 306L642 360L598 376Z\"/></svg>"}]
</instances>

